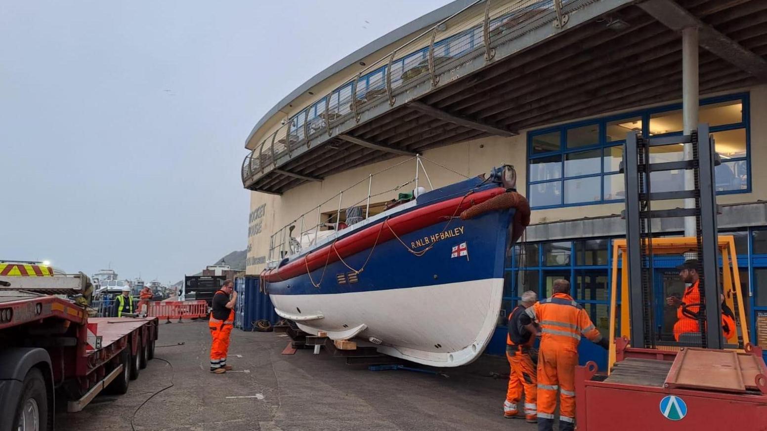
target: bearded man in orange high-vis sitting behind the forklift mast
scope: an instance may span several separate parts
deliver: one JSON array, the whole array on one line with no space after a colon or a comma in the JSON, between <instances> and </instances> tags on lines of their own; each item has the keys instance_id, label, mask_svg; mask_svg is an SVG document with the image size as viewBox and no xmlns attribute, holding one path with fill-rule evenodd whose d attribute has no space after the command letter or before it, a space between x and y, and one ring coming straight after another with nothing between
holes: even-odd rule
<instances>
[{"instance_id":1,"label":"bearded man in orange high-vis sitting behind the forklift mast","mask_svg":"<svg viewBox=\"0 0 767 431\"><path fill-rule=\"evenodd\" d=\"M682 265L676 267L679 270L679 278L686 284L682 298L670 296L666 303L676 308L676 323L673 325L674 340L679 341L684 333L700 334L700 324L693 318L700 311L700 275L698 275L698 260L688 259ZM735 314L724 302L724 295L719 295L722 301L722 333L725 341L737 334ZM685 313L685 311L687 311ZM692 314L692 315L690 315Z\"/></svg>"}]
</instances>

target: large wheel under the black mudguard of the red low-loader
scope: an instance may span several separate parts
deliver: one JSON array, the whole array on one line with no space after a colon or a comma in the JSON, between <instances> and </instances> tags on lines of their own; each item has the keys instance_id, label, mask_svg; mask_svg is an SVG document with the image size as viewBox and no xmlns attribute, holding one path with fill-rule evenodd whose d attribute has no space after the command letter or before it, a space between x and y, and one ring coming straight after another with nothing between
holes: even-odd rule
<instances>
[{"instance_id":1,"label":"large wheel under the black mudguard of the red low-loader","mask_svg":"<svg viewBox=\"0 0 767 431\"><path fill-rule=\"evenodd\" d=\"M18 400L11 429L47 431L48 407L48 394L43 374L37 368L32 368L24 378L24 390Z\"/></svg>"}]
</instances>

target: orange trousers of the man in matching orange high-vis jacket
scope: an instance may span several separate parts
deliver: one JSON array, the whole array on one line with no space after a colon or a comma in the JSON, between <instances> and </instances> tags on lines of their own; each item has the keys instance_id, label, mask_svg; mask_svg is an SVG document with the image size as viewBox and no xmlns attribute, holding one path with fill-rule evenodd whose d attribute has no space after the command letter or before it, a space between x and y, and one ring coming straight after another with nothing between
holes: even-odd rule
<instances>
[{"instance_id":1,"label":"orange trousers of the man in matching orange high-vis jacket","mask_svg":"<svg viewBox=\"0 0 767 431\"><path fill-rule=\"evenodd\" d=\"M559 392L559 429L575 425L575 366L578 345L543 341L538 352L538 429L550 430L554 424Z\"/></svg>"}]
</instances>

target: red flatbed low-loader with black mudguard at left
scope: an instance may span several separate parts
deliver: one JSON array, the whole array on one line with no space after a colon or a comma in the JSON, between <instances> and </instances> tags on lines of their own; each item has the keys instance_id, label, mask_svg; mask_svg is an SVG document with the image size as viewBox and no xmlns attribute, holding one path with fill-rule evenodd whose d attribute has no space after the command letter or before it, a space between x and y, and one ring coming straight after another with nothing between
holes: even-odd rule
<instances>
[{"instance_id":1,"label":"red flatbed low-loader with black mudguard at left","mask_svg":"<svg viewBox=\"0 0 767 431\"><path fill-rule=\"evenodd\" d=\"M0 275L0 431L54 429L56 406L126 393L154 357L157 318L89 317L77 275Z\"/></svg>"}]
</instances>

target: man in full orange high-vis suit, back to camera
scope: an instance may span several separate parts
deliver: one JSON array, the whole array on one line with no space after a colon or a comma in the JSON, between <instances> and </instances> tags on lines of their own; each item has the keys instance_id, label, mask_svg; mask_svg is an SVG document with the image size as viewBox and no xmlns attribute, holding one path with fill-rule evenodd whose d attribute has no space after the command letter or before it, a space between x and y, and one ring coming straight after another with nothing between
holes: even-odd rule
<instances>
[{"instance_id":1,"label":"man in full orange high-vis suit, back to camera","mask_svg":"<svg viewBox=\"0 0 767 431\"><path fill-rule=\"evenodd\" d=\"M575 366L578 365L578 342L581 336L607 349L588 313L570 296L570 282L558 279L551 298L535 303L520 317L528 331L535 331L533 320L541 327L538 353L538 430L551 431L559 395L559 429L572 431L575 426Z\"/></svg>"}]
</instances>

